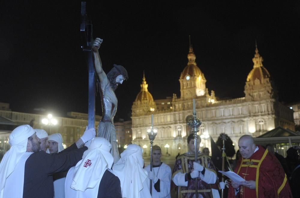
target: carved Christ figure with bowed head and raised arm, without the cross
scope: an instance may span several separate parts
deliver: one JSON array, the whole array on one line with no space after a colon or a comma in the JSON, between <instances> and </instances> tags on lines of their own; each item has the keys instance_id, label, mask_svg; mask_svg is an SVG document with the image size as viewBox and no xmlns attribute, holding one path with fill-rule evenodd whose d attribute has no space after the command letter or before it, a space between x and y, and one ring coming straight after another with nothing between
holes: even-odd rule
<instances>
[{"instance_id":1,"label":"carved Christ figure with bowed head and raised arm, without the cross","mask_svg":"<svg viewBox=\"0 0 300 198\"><path fill-rule=\"evenodd\" d=\"M101 94L102 104L102 119L98 125L98 137L104 137L112 145L111 154L114 158L114 163L120 159L116 129L113 123L113 118L117 111L118 100L115 95L115 90L119 84L128 79L128 73L122 65L113 65L113 68L106 74L102 69L102 63L99 55L99 47L102 43L101 38L96 38L92 51L96 72L99 78L99 92Z\"/></svg>"}]
</instances>

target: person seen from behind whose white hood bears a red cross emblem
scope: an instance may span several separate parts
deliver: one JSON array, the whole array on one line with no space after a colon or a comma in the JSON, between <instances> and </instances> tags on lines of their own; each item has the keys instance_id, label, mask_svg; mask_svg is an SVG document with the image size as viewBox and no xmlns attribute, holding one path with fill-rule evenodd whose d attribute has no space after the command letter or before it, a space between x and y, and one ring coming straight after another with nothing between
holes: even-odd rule
<instances>
[{"instance_id":1,"label":"person seen from behind whose white hood bears a red cross emblem","mask_svg":"<svg viewBox=\"0 0 300 198\"><path fill-rule=\"evenodd\" d=\"M120 180L111 167L113 156L107 139L96 137L75 167L70 168L66 183L66 198L122 198Z\"/></svg>"}]
</instances>

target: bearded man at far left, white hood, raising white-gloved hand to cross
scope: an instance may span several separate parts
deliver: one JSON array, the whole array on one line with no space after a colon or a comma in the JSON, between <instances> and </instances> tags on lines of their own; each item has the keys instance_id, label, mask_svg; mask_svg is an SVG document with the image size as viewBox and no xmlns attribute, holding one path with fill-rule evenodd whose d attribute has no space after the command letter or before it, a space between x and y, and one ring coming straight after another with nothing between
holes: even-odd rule
<instances>
[{"instance_id":1,"label":"bearded man at far left, white hood, raising white-gloved hand to cross","mask_svg":"<svg viewBox=\"0 0 300 198\"><path fill-rule=\"evenodd\" d=\"M81 139L70 147L79 148L95 135L95 129L88 129ZM50 155L40 151L39 141L35 130L29 125L18 126L11 132L11 148L0 163L0 198L53 198L52 174L67 171L75 166L87 150L87 147L82 147Z\"/></svg>"}]
</instances>

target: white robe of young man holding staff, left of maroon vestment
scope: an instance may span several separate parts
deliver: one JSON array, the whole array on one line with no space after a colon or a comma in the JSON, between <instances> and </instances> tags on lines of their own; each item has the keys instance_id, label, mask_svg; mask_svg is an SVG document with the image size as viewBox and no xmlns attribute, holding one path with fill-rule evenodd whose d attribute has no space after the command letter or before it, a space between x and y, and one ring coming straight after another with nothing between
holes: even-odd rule
<instances>
[{"instance_id":1,"label":"white robe of young man holding staff, left of maroon vestment","mask_svg":"<svg viewBox=\"0 0 300 198\"><path fill-rule=\"evenodd\" d=\"M150 164L145 167L145 170L148 172L150 171ZM160 191L161 191L161 192L157 192L155 190L154 182L152 181L152 197L171 198L170 185L171 185L172 171L170 166L168 166L165 163L162 163L160 167L154 167L152 171L154 171L155 175L157 175L157 177L160 179Z\"/></svg>"}]
</instances>

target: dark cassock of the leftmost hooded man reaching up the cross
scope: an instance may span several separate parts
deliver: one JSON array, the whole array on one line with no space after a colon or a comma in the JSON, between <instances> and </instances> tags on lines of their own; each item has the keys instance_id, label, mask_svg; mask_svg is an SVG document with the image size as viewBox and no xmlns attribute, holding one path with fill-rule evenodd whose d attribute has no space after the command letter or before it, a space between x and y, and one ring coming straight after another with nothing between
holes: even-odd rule
<instances>
[{"instance_id":1,"label":"dark cassock of the leftmost hooded man reaching up the cross","mask_svg":"<svg viewBox=\"0 0 300 198\"><path fill-rule=\"evenodd\" d=\"M87 147L71 145L58 154L39 151L31 154L25 163L23 197L53 198L54 173L68 171L82 159Z\"/></svg>"}]
</instances>

